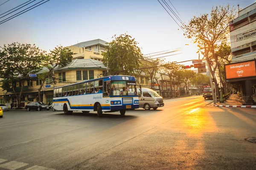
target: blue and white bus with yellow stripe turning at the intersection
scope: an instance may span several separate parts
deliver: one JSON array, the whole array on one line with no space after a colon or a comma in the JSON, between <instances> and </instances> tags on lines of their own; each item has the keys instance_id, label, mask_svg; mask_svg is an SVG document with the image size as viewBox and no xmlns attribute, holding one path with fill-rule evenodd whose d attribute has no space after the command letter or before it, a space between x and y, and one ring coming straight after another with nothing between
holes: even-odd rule
<instances>
[{"instance_id":1,"label":"blue and white bus with yellow stripe turning at the intersection","mask_svg":"<svg viewBox=\"0 0 256 170\"><path fill-rule=\"evenodd\" d=\"M139 108L135 77L109 76L86 80L54 88L53 109L72 114L73 111L89 113L120 111Z\"/></svg>"}]
</instances>

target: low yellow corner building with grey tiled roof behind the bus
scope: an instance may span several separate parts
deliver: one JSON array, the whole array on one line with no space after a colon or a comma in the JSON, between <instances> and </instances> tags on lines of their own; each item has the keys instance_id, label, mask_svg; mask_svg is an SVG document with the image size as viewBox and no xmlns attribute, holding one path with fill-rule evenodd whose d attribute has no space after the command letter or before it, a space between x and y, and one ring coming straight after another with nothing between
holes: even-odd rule
<instances>
[{"instance_id":1,"label":"low yellow corner building with grey tiled roof behind the bus","mask_svg":"<svg viewBox=\"0 0 256 170\"><path fill-rule=\"evenodd\" d=\"M47 71L47 69L43 68L35 74L39 75L45 71ZM55 84L53 85L54 81L52 77L46 79L43 88L41 89L41 99L38 99L38 89L43 83L42 80L36 77L27 79L24 83L20 107L25 107L29 102L36 101L52 104L53 86L58 87L88 79L95 79L97 77L102 77L102 74L105 74L105 72L106 67L103 65L102 61L96 61L94 59L74 59L65 67L55 68ZM16 94L19 94L20 89L20 82L17 82L15 85ZM9 88L7 93L6 91L3 91L2 95L2 99L4 99L3 103L9 106L13 103L14 107L17 107L17 97L12 91L12 87Z\"/></svg>"}]
</instances>

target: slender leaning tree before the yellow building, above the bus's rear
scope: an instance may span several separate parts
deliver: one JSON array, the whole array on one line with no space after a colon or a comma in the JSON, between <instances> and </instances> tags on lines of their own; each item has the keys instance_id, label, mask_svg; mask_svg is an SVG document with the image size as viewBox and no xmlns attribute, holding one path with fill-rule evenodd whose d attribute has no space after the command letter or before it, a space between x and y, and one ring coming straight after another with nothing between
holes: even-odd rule
<instances>
[{"instance_id":1,"label":"slender leaning tree before the yellow building, above the bus's rear","mask_svg":"<svg viewBox=\"0 0 256 170\"><path fill-rule=\"evenodd\" d=\"M64 67L72 61L73 52L63 46L57 46L49 54L44 56L42 65L47 68L42 74L38 75L38 78L42 80L42 84L38 89L38 99L41 99L41 90L44 82L47 78L52 77L53 87L55 87L56 81L54 77L54 69L56 67Z\"/></svg>"}]
</instances>

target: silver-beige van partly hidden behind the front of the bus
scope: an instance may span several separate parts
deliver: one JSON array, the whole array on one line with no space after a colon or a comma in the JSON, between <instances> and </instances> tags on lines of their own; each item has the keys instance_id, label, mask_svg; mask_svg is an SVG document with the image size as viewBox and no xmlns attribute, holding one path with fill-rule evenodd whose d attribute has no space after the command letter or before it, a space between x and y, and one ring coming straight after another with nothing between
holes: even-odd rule
<instances>
[{"instance_id":1,"label":"silver-beige van partly hidden behind the front of the bus","mask_svg":"<svg viewBox=\"0 0 256 170\"><path fill-rule=\"evenodd\" d=\"M140 88L137 89L139 95L140 108L145 110L150 110L153 108L157 110L158 107L163 107L163 97L159 96L156 91L150 88Z\"/></svg>"}]
</instances>

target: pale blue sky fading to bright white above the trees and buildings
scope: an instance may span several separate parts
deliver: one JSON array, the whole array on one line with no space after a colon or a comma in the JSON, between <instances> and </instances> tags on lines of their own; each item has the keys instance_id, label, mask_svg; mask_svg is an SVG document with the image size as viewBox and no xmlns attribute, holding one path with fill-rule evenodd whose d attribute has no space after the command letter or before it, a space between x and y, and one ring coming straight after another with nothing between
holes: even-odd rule
<instances>
[{"instance_id":1,"label":"pale blue sky fading to bright white above the trees and buildings","mask_svg":"<svg viewBox=\"0 0 256 170\"><path fill-rule=\"evenodd\" d=\"M6 1L0 0L0 4ZM0 14L26 1L28 0L9 0L0 6ZM35 0L31 4L40 1ZM236 8L238 4L239 8L245 8L255 0L166 2L170 6L171 2L182 20L188 23L193 16L210 13L212 6L229 3ZM3 16L4 14L0 15ZM6 17L9 16L11 14ZM0 21L6 17L0 18ZM49 0L0 24L0 46L12 42L30 43L49 51L57 45L70 46L88 40L102 39L110 42L114 34L123 33L139 42L138 46L143 54L181 48L178 53L182 54L165 57L166 61L198 59L196 45L184 37L184 32L157 0Z\"/></svg>"}]
</instances>

